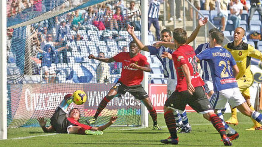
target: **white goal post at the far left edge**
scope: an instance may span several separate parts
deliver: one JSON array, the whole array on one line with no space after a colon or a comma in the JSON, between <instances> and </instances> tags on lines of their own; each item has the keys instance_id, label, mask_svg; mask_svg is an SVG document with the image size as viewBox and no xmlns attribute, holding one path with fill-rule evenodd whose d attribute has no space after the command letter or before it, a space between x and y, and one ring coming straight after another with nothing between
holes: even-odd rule
<instances>
[{"instance_id":1,"label":"white goal post at the far left edge","mask_svg":"<svg viewBox=\"0 0 262 147\"><path fill-rule=\"evenodd\" d=\"M7 139L6 1L0 1L0 140Z\"/></svg>"}]
</instances>

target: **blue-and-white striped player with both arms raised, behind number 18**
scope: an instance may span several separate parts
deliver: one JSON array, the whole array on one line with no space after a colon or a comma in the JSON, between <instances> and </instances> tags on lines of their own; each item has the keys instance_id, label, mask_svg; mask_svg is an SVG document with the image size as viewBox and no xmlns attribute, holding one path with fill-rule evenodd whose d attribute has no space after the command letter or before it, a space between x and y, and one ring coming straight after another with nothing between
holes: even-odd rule
<instances>
[{"instance_id":1,"label":"blue-and-white striped player with both arms raised, behind number 18","mask_svg":"<svg viewBox=\"0 0 262 147\"><path fill-rule=\"evenodd\" d=\"M201 28L201 26L204 26L206 23L207 23L207 18L205 18L204 20L202 20L202 18L199 19L197 28L194 30L191 36L187 38L186 44L189 44L197 37L199 29ZM173 68L174 64L171 56L171 53L174 52L173 48L169 48L169 47L166 48L163 45L160 46L160 48L144 45L136 37L133 26L128 25L127 32L132 36L132 38L134 39L135 43L138 45L138 48L140 50L144 50L146 52L149 52L151 55L157 56L157 59L159 59L159 61L163 65L164 77L167 78L167 97L169 98L170 95L175 91L176 88L175 85L177 85L177 76L175 74L176 71ZM169 43L172 41L172 34L171 31L169 31L168 29L163 29L160 33L160 37L162 42ZM179 112L178 110L174 110L174 115L176 119L177 131L182 127L179 133L191 132L192 129L190 124L188 123L186 112L185 111Z\"/></svg>"}]
</instances>

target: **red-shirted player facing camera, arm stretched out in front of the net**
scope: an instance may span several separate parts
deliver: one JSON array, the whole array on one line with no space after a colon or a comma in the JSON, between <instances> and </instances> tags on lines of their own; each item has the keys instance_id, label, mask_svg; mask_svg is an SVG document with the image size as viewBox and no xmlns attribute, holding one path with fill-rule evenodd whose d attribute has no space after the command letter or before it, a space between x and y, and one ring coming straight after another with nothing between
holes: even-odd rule
<instances>
[{"instance_id":1,"label":"red-shirted player facing camera, arm stretched out in front of the net","mask_svg":"<svg viewBox=\"0 0 262 147\"><path fill-rule=\"evenodd\" d=\"M147 62L146 56L141 55L139 52L135 41L131 41L129 43L129 51L130 52L121 52L116 56L111 58L99 58L94 55L89 55L89 59L96 59L102 62L121 62L122 63L122 72L120 79L116 82L115 86L113 86L108 94L102 99L100 102L96 114L93 118L87 120L87 124L92 124L96 121L99 114L106 107L107 103L113 99L114 97L119 96L120 94L125 94L129 92L132 94L135 99L139 99L146 106L147 110L149 110L149 114L153 119L153 129L161 129L157 124L157 113L155 108L153 107L151 100L149 99L148 94L141 86L141 82L143 80L144 71L150 72L151 68L149 63Z\"/></svg>"}]
</instances>

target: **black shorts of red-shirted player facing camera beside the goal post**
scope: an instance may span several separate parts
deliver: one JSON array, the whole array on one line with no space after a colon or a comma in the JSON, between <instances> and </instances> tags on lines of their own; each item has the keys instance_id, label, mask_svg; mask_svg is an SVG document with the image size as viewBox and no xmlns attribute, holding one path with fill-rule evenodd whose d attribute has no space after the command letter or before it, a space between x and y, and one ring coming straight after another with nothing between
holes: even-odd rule
<instances>
[{"instance_id":1,"label":"black shorts of red-shirted player facing camera beside the goal post","mask_svg":"<svg viewBox=\"0 0 262 147\"><path fill-rule=\"evenodd\" d=\"M122 82L117 81L116 85L113 86L111 89L117 91L118 94L125 94L126 92L129 92L132 94L132 96L135 97L135 99L145 99L148 96L142 85L133 85L133 86L125 86Z\"/></svg>"}]
</instances>

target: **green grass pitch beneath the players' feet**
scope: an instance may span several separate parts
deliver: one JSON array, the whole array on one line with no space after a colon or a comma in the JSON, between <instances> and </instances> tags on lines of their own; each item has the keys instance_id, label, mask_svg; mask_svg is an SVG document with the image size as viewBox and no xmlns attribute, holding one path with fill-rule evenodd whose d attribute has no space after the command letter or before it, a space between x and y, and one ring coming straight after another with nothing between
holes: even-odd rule
<instances>
[{"instance_id":1,"label":"green grass pitch beneath the players' feet","mask_svg":"<svg viewBox=\"0 0 262 147\"><path fill-rule=\"evenodd\" d=\"M225 118L229 118L229 116L229 113L224 115ZM148 128L110 127L104 130L102 136L73 134L53 135L51 133L43 133L42 129L39 127L9 128L9 139L0 140L0 146L167 146L160 143L161 139L169 137L163 114L158 114L157 119L163 130L152 130L152 121L149 116ZM178 134L179 144L177 146L224 146L222 141L220 141L219 134L213 126L202 117L202 115L188 113L188 119L192 126L192 132L188 134ZM245 130L253 125L250 118L238 113L238 121L239 124L237 126L231 125L231 127L236 129L240 135L237 140L233 140L233 146L262 146L262 131ZM47 136L28 137L37 135Z\"/></svg>"}]
</instances>

